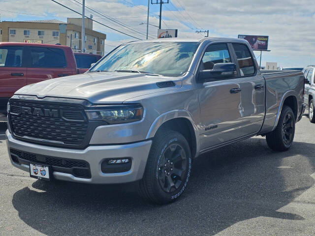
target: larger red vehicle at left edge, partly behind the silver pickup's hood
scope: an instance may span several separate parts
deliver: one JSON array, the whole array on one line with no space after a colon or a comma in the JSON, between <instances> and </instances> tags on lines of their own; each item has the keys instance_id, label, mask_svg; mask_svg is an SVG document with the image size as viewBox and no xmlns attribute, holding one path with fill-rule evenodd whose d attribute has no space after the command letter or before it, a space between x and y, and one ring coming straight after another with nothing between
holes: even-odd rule
<instances>
[{"instance_id":1,"label":"larger red vehicle at left edge, partly behind the silver pickup's hood","mask_svg":"<svg viewBox=\"0 0 315 236\"><path fill-rule=\"evenodd\" d=\"M0 113L6 111L9 98L18 89L43 80L78 73L70 47L0 43Z\"/></svg>"}]
</instances>

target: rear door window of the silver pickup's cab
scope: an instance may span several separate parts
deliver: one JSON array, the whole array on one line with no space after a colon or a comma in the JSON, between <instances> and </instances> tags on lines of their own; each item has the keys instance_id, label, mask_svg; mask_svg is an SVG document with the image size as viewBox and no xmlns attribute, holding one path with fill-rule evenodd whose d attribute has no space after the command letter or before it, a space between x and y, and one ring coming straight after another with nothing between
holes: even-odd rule
<instances>
[{"instance_id":1,"label":"rear door window of the silver pickup's cab","mask_svg":"<svg viewBox=\"0 0 315 236\"><path fill-rule=\"evenodd\" d=\"M240 67L241 76L251 76L255 73L254 61L250 50L245 44L232 44L238 65Z\"/></svg>"}]
</instances>

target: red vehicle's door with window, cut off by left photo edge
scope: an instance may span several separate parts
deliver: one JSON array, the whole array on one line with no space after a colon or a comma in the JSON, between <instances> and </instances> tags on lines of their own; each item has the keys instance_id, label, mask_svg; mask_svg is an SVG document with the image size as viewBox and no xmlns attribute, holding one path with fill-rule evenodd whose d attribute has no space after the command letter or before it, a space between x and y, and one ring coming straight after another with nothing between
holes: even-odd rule
<instances>
[{"instance_id":1,"label":"red vehicle's door with window, cut off by left photo edge","mask_svg":"<svg viewBox=\"0 0 315 236\"><path fill-rule=\"evenodd\" d=\"M23 46L0 47L0 100L6 104L14 92L26 86ZM2 108L1 108L2 110Z\"/></svg>"}]
</instances>

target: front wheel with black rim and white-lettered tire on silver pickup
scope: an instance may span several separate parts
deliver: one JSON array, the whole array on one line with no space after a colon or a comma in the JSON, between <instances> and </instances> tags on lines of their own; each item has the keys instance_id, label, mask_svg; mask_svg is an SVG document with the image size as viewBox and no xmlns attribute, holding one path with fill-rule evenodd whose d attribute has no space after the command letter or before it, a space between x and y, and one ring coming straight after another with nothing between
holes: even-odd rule
<instances>
[{"instance_id":1,"label":"front wheel with black rim and white-lettered tire on silver pickup","mask_svg":"<svg viewBox=\"0 0 315 236\"><path fill-rule=\"evenodd\" d=\"M153 140L139 193L156 204L173 202L184 192L190 170L191 153L185 137L161 129Z\"/></svg>"}]
</instances>

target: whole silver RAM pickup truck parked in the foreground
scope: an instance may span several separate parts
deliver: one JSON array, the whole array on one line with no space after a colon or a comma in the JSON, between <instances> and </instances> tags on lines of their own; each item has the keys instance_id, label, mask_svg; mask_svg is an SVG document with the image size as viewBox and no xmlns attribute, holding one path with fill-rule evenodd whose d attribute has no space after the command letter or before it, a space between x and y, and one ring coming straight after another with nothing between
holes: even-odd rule
<instances>
[{"instance_id":1,"label":"whole silver RAM pickup truck parked in the foreground","mask_svg":"<svg viewBox=\"0 0 315 236\"><path fill-rule=\"evenodd\" d=\"M185 190L192 160L255 135L291 147L301 71L261 72L247 41L123 44L87 73L18 90L8 103L13 166L38 179L139 182L155 203Z\"/></svg>"}]
</instances>

